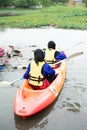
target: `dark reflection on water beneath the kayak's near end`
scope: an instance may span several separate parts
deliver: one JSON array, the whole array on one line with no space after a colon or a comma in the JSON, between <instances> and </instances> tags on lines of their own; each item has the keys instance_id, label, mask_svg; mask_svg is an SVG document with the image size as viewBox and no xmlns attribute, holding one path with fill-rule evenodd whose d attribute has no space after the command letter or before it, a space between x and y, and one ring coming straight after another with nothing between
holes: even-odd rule
<instances>
[{"instance_id":1,"label":"dark reflection on water beneath the kayak's near end","mask_svg":"<svg viewBox=\"0 0 87 130\"><path fill-rule=\"evenodd\" d=\"M50 113L53 109L53 106L55 105L55 102L50 105L47 109L43 110L42 112L30 116L26 119L23 119L22 117L19 117L14 114L14 120L15 125L18 130L29 130L30 128L34 129L41 129L46 127L48 124L48 114L50 116ZM51 118L51 117L50 117Z\"/></svg>"}]
</instances>

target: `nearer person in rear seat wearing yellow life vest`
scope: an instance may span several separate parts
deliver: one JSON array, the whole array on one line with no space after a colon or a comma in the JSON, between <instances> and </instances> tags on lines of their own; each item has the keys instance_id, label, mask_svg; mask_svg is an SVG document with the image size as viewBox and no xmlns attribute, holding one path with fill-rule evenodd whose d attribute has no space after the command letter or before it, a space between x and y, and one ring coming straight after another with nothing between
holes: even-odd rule
<instances>
[{"instance_id":1,"label":"nearer person in rear seat wearing yellow life vest","mask_svg":"<svg viewBox=\"0 0 87 130\"><path fill-rule=\"evenodd\" d=\"M34 51L34 60L28 65L23 77L35 90L47 88L55 79L55 70L44 61L44 52L41 49ZM50 80L48 81L47 78Z\"/></svg>"}]
</instances>

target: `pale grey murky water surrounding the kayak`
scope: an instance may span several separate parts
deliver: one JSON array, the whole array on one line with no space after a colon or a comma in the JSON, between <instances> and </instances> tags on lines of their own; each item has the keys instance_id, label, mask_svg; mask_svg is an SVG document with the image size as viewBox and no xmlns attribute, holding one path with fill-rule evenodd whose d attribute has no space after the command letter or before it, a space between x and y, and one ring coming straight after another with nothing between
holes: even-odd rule
<instances>
[{"instance_id":1,"label":"pale grey murky water surrounding the kayak","mask_svg":"<svg viewBox=\"0 0 87 130\"><path fill-rule=\"evenodd\" d=\"M24 69L15 66L27 65L33 58L33 50L46 48L49 40L57 47L67 49L67 55L84 51L84 54L67 62L67 75L63 90L57 100L44 111L27 118L16 116L13 100L18 81L13 86L0 88L0 130L87 130L87 31L45 29L5 29L0 31L0 46L18 47L23 57L9 59L9 64L0 72L0 81L12 81L22 77ZM83 42L77 46L76 43Z\"/></svg>"}]
</instances>

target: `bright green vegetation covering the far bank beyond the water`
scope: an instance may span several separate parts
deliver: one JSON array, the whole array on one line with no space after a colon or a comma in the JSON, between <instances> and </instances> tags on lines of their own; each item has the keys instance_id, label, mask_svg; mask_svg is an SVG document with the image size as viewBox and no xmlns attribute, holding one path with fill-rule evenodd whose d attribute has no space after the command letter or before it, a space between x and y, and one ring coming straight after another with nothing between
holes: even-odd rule
<instances>
[{"instance_id":1,"label":"bright green vegetation covering the far bank beyond the water","mask_svg":"<svg viewBox=\"0 0 87 130\"><path fill-rule=\"evenodd\" d=\"M40 28L87 30L87 8L52 5L43 8L0 8L0 28Z\"/></svg>"}]
</instances>

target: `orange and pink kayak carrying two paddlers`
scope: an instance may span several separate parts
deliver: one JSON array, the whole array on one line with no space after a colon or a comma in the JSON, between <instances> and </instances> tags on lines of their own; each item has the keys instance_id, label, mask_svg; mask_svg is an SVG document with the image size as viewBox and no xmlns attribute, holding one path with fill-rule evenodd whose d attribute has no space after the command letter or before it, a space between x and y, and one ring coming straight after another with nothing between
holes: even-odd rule
<instances>
[{"instance_id":1,"label":"orange and pink kayak carrying two paddlers","mask_svg":"<svg viewBox=\"0 0 87 130\"><path fill-rule=\"evenodd\" d=\"M33 90L28 84L28 80L24 80L14 97L14 113L16 115L27 118L42 111L54 102L64 85L66 61L61 63L56 72L58 73L56 79L43 90Z\"/></svg>"}]
</instances>

